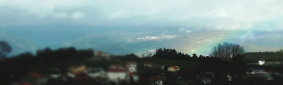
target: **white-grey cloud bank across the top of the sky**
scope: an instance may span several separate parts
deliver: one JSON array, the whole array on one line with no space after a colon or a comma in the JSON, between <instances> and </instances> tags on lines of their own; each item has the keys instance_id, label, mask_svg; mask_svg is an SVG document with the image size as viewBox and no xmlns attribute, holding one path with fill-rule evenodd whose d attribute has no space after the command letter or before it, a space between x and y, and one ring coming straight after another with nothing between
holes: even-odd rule
<instances>
[{"instance_id":1,"label":"white-grey cloud bank across the top of the sky","mask_svg":"<svg viewBox=\"0 0 283 85\"><path fill-rule=\"evenodd\" d=\"M7 25L200 26L214 30L282 30L282 0L1 0ZM12 11L13 10L13 11ZM15 15L16 14L16 15ZM3 15L3 14L2 14ZM34 17L35 16L35 17ZM50 19L50 16L53 17ZM23 19L23 20L22 20ZM78 23L75 19L83 19ZM1 23L1 22L0 22ZM55 23L55 22L54 22ZM179 29L180 31L187 31Z\"/></svg>"}]
</instances>

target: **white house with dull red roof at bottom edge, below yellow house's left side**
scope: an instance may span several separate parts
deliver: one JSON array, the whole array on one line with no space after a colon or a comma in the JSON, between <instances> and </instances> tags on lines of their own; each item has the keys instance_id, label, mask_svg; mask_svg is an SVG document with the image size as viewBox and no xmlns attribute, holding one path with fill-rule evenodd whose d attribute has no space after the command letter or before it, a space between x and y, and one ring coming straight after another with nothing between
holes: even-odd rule
<instances>
[{"instance_id":1,"label":"white house with dull red roof at bottom edge, below yellow house's left side","mask_svg":"<svg viewBox=\"0 0 283 85\"><path fill-rule=\"evenodd\" d=\"M164 85L165 80L166 80L165 77L158 75L147 78L147 81L152 85Z\"/></svg>"}]
</instances>

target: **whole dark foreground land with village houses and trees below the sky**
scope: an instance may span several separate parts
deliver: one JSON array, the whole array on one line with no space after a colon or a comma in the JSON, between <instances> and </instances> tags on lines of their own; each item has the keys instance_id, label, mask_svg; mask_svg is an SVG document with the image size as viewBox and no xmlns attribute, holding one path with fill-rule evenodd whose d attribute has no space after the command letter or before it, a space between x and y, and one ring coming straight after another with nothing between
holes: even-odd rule
<instances>
[{"instance_id":1,"label":"whole dark foreground land with village houses and trees below the sky","mask_svg":"<svg viewBox=\"0 0 283 85\"><path fill-rule=\"evenodd\" d=\"M9 48L8 44L7 47ZM222 50L226 49L226 50ZM3 51L4 52L4 51ZM8 51L7 51L8 52ZM225 54L223 54L225 53ZM219 43L211 56L157 49L112 55L73 47L2 57L1 85L280 85L283 51L245 53Z\"/></svg>"}]
</instances>

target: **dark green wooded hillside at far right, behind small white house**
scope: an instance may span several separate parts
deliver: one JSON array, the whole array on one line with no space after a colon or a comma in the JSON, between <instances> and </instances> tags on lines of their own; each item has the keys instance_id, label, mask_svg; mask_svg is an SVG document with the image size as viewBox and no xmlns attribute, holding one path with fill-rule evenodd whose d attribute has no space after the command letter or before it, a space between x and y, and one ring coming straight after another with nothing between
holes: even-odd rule
<instances>
[{"instance_id":1,"label":"dark green wooded hillside at far right, behind small white house","mask_svg":"<svg viewBox=\"0 0 283 85\"><path fill-rule=\"evenodd\" d=\"M266 61L283 61L283 50L277 52L249 52L246 53L246 60L248 63L256 63L258 60Z\"/></svg>"}]
</instances>

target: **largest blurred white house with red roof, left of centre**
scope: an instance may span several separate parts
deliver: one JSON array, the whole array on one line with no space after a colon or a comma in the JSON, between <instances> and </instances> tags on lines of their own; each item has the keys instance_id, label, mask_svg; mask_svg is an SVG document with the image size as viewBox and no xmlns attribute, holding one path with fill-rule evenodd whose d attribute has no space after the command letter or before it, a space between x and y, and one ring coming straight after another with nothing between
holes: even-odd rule
<instances>
[{"instance_id":1,"label":"largest blurred white house with red roof, left of centre","mask_svg":"<svg viewBox=\"0 0 283 85\"><path fill-rule=\"evenodd\" d=\"M120 64L112 64L107 71L109 82L116 84L127 80L127 70Z\"/></svg>"}]
</instances>

